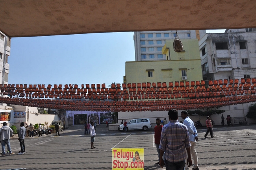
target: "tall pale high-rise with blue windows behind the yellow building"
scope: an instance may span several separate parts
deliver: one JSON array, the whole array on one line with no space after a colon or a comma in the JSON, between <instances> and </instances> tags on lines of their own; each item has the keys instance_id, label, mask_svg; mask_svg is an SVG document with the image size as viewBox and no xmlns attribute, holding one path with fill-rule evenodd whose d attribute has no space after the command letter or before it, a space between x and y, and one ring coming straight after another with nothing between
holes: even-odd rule
<instances>
[{"instance_id":1,"label":"tall pale high-rise with blue windows behind the yellow building","mask_svg":"<svg viewBox=\"0 0 256 170\"><path fill-rule=\"evenodd\" d=\"M201 39L205 30L177 31L180 39ZM134 32L135 61L168 60L162 54L165 40L174 39L176 31L139 31Z\"/></svg>"}]
</instances>

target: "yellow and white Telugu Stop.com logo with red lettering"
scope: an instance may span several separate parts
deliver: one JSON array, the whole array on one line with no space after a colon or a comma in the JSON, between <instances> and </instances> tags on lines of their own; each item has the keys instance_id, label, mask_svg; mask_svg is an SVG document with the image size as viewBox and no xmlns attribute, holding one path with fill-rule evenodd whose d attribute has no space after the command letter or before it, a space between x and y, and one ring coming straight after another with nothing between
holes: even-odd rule
<instances>
[{"instance_id":1,"label":"yellow and white Telugu Stop.com logo with red lettering","mask_svg":"<svg viewBox=\"0 0 256 170\"><path fill-rule=\"evenodd\" d=\"M112 148L112 170L144 170L144 149Z\"/></svg>"}]
</instances>

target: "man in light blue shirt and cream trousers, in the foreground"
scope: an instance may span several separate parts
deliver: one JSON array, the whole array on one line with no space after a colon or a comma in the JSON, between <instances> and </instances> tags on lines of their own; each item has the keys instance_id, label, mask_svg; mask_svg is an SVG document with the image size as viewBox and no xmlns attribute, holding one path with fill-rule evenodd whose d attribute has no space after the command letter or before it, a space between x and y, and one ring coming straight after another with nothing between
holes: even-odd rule
<instances>
[{"instance_id":1,"label":"man in light blue shirt and cream trousers, in the foreground","mask_svg":"<svg viewBox=\"0 0 256 170\"><path fill-rule=\"evenodd\" d=\"M196 141L198 141L198 137L197 137L197 129L194 125L194 122L189 118L187 111L182 111L181 112L181 118L184 119L183 124L187 126L187 129L189 131L189 140L190 140L190 152L191 155L193 157L193 161L194 161L194 166L192 168L192 170L199 170L198 168L198 157L197 157L197 152L196 152ZM185 159L185 163L186 163L186 159ZM187 166L187 164L185 165L185 170L188 170L189 167Z\"/></svg>"}]
</instances>

